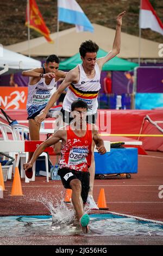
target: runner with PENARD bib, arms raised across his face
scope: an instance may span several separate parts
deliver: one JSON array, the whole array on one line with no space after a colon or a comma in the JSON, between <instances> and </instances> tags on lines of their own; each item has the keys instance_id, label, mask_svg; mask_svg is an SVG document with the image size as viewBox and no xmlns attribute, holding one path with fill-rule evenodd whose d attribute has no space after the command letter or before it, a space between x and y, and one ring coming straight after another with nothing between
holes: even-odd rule
<instances>
[{"instance_id":1,"label":"runner with PENARD bib, arms raised across his face","mask_svg":"<svg viewBox=\"0 0 163 256\"><path fill-rule=\"evenodd\" d=\"M58 70L59 58L49 55L45 62L45 68L36 68L23 71L23 76L29 76L27 113L29 120L29 133L32 141L40 140L40 124L36 123L35 117L46 107L51 91L56 87L59 78L65 78L66 72ZM33 153L29 153L29 160ZM29 178L29 177L28 177ZM32 177L31 177L32 178Z\"/></svg>"}]
</instances>

